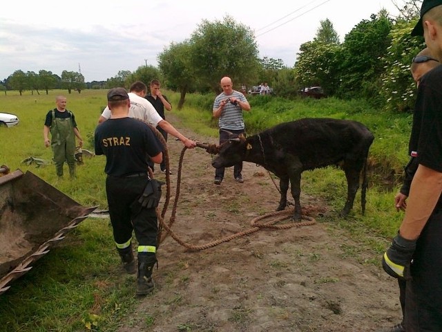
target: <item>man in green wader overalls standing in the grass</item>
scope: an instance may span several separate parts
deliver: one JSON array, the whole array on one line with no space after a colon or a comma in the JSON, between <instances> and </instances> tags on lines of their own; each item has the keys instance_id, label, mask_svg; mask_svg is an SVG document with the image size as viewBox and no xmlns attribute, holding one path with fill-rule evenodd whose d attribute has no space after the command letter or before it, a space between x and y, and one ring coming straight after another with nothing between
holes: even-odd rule
<instances>
[{"instance_id":1,"label":"man in green wader overalls standing in the grass","mask_svg":"<svg viewBox=\"0 0 442 332\"><path fill-rule=\"evenodd\" d=\"M66 161L70 178L75 178L75 136L79 140L79 147L83 146L83 138L77 128L74 113L66 109L66 103L64 95L57 95L55 98L57 107L46 114L43 139L46 147L52 147L57 176L63 177L63 165Z\"/></svg>"}]
</instances>

